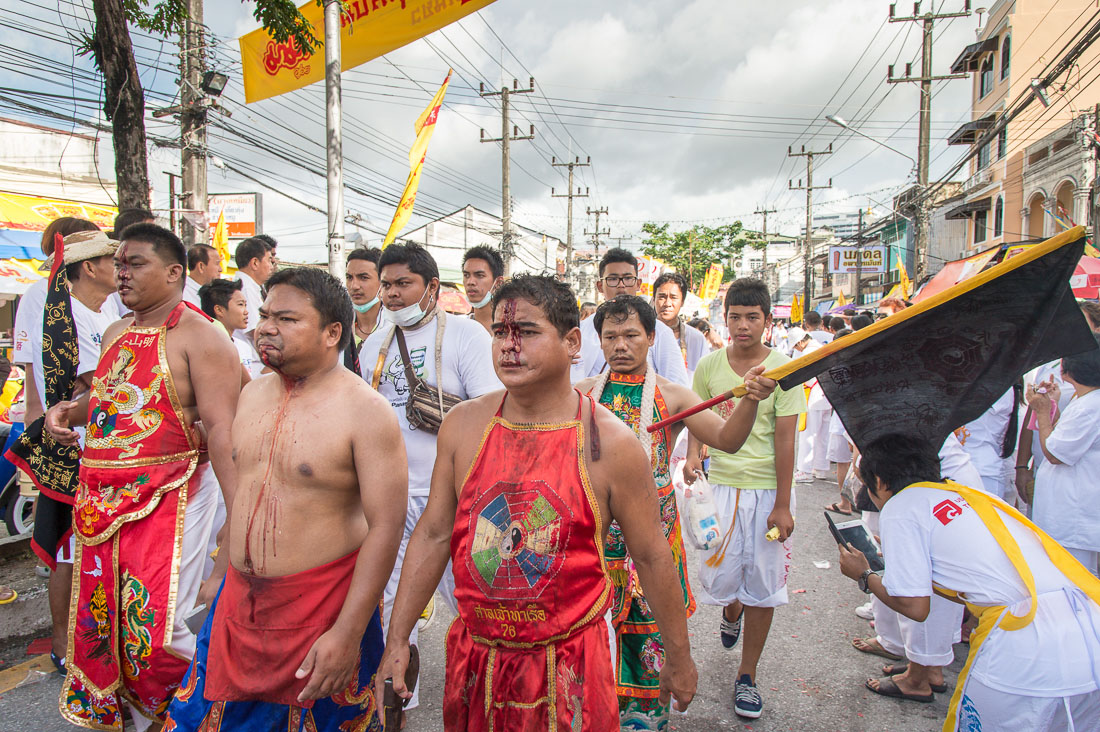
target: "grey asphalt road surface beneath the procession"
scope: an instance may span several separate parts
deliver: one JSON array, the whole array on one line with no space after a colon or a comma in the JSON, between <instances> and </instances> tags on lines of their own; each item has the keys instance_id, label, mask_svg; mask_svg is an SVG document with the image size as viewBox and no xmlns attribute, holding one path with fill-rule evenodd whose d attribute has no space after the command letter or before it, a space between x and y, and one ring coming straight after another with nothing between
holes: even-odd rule
<instances>
[{"instance_id":1,"label":"grey asphalt road surface beneath the procession","mask_svg":"<svg viewBox=\"0 0 1100 732\"><path fill-rule=\"evenodd\" d=\"M840 575L836 548L822 517L822 506L835 498L835 485L823 481L798 487L791 602L777 610L760 662L758 685L765 700L763 715L748 721L734 714L733 685L740 646L724 649L718 640L718 609L700 605L689 621L700 674L698 696L685 715L673 718L672 729L933 732L941 728L966 646L956 646L957 660L946 673L952 688L946 695L937 695L934 703L886 699L864 688L864 681L878 675L884 662L860 654L850 645L853 638L871 631L853 613L865 596L855 582ZM690 550L689 556L694 579L697 562ZM815 560L827 560L831 566L818 569ZM3 581L6 578L0 576ZM443 635L450 618L446 605L438 602L437 608L432 624L420 634L421 706L410 713L408 732L442 729ZM59 690L61 678L51 675L0 696L0 732L76 729L57 712Z\"/></svg>"}]
</instances>

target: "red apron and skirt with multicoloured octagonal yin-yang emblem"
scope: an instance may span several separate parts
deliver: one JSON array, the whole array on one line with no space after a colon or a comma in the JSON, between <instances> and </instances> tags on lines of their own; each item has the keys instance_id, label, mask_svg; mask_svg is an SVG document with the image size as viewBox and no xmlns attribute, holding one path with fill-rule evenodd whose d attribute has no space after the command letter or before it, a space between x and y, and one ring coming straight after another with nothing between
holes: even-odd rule
<instances>
[{"instance_id":1,"label":"red apron and skirt with multicoloured octagonal yin-yang emblem","mask_svg":"<svg viewBox=\"0 0 1100 732\"><path fill-rule=\"evenodd\" d=\"M618 730L603 621L610 587L581 413L516 425L498 409L482 437L451 539L459 616L447 634L448 732Z\"/></svg>"}]
</instances>

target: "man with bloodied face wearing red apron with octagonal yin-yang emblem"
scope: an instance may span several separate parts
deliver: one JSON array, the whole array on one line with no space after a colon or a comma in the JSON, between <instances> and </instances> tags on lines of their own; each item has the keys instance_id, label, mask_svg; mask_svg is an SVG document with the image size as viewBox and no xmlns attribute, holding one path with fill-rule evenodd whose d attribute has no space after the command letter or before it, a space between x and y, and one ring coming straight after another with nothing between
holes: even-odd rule
<instances>
[{"instance_id":1,"label":"man with bloodied face wearing red apron with octagonal yin-yang emblem","mask_svg":"<svg viewBox=\"0 0 1100 732\"><path fill-rule=\"evenodd\" d=\"M493 299L505 391L443 420L427 509L409 540L378 689L405 688L408 635L452 560L449 732L619 729L603 544L622 526L664 640L660 696L685 709L696 671L653 474L634 433L570 385L580 349L573 293L519 276Z\"/></svg>"}]
</instances>

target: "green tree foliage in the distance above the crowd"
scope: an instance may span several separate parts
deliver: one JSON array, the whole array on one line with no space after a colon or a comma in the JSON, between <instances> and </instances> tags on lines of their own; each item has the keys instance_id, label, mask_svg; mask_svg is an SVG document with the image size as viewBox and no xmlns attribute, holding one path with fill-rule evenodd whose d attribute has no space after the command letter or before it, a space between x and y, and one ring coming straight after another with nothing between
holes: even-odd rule
<instances>
[{"instance_id":1,"label":"green tree foliage in the distance above the crowd","mask_svg":"<svg viewBox=\"0 0 1100 732\"><path fill-rule=\"evenodd\" d=\"M723 265L723 280L732 280L730 260L739 256L746 247L763 247L760 234L747 231L740 221L721 227L696 225L683 231L669 231L668 223L647 222L641 230L648 234L642 240L642 253L674 266L676 272L688 277L693 289L703 282L712 264Z\"/></svg>"}]
</instances>

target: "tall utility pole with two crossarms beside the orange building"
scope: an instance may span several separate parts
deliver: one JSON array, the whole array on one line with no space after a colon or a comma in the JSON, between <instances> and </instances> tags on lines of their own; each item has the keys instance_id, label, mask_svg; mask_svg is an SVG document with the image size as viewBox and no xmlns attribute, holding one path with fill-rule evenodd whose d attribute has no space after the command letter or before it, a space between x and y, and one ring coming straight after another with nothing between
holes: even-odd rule
<instances>
[{"instance_id":1,"label":"tall utility pole with two crossarms beside the orange building","mask_svg":"<svg viewBox=\"0 0 1100 732\"><path fill-rule=\"evenodd\" d=\"M905 76L894 77L893 65L887 68L887 84L902 84L919 81L921 84L921 118L920 132L916 143L916 263L914 282L920 282L928 272L928 239L932 229L932 201L925 196L928 189L928 151L932 143L932 83L942 79L965 79L966 74L947 74L933 76L932 74L932 29L937 20L948 18L966 18L970 14L970 0L964 0L963 10L954 13L935 12L935 3L930 2L930 10L921 12L921 3L913 3L913 14L906 18L894 15L895 4L890 6L890 22L917 22L923 26L923 42L921 44L921 75L913 76L913 65L905 64Z\"/></svg>"}]
</instances>

